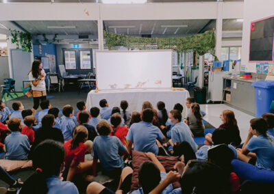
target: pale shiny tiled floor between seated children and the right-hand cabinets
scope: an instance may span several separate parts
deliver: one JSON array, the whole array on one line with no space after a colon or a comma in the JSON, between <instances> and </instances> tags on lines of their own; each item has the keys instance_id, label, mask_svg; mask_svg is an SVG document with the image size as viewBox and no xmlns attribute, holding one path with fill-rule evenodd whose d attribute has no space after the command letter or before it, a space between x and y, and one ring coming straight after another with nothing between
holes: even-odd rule
<instances>
[{"instance_id":1,"label":"pale shiny tiled floor between seated children and the right-hand cabinets","mask_svg":"<svg viewBox=\"0 0 274 194\"><path fill-rule=\"evenodd\" d=\"M245 139L247 138L247 134L249 130L249 121L253 118L253 116L223 104L200 105L200 106L201 106L201 110L206 112L206 116L203 117L203 119L208 121L210 124L212 124L216 128L218 128L222 123L220 115L224 110L229 109L234 111L236 120L238 122L238 127L240 129L240 137L242 138L242 143L244 143Z\"/></svg>"}]
</instances>

